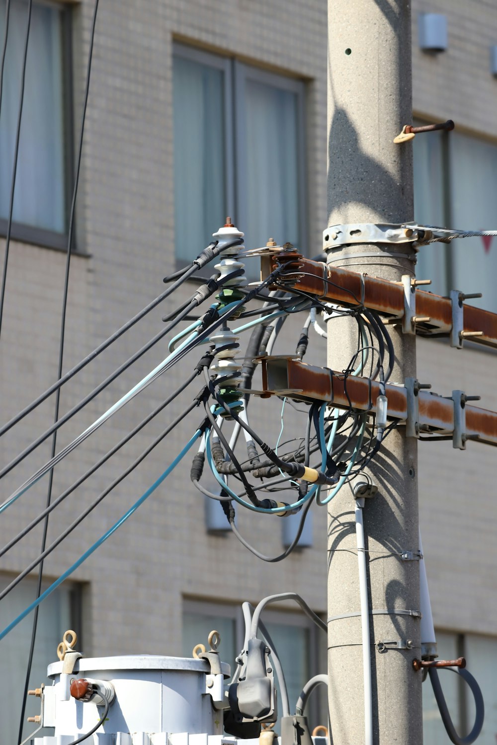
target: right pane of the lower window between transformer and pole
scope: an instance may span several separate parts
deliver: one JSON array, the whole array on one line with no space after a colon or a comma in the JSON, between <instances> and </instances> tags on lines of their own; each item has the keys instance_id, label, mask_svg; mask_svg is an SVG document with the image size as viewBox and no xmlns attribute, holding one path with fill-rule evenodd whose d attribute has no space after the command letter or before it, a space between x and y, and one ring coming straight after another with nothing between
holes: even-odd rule
<instances>
[{"instance_id":1,"label":"right pane of the lower window between transformer and pole","mask_svg":"<svg viewBox=\"0 0 497 745\"><path fill-rule=\"evenodd\" d=\"M309 630L300 626L274 624L265 621L265 627L276 646L279 661L282 664L288 689L290 713L295 713L295 705L303 689L303 685L310 678L309 673ZM278 690L278 720L282 716L281 694L275 676ZM315 694L314 694L315 695ZM306 712L308 713L308 712ZM277 729L277 727L276 727ZM278 733L281 734L278 730Z\"/></svg>"}]
</instances>

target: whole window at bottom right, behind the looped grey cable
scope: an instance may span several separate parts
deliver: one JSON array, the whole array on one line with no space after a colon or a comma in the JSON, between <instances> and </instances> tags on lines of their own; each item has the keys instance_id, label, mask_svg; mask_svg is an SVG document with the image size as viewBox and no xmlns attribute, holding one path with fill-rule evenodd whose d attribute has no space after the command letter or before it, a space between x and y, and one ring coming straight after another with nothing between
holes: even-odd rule
<instances>
[{"instance_id":1,"label":"whole window at bottom right, behind the looped grey cable","mask_svg":"<svg viewBox=\"0 0 497 745\"><path fill-rule=\"evenodd\" d=\"M467 669L478 682L484 697L485 720L478 737L479 745L495 745L497 738L497 638L478 634L437 631L439 659L465 657ZM439 671L440 684L452 722L461 737L466 737L475 721L475 705L469 686L449 670ZM431 688L430 679L422 684L423 732L425 745L449 742Z\"/></svg>"}]
</instances>

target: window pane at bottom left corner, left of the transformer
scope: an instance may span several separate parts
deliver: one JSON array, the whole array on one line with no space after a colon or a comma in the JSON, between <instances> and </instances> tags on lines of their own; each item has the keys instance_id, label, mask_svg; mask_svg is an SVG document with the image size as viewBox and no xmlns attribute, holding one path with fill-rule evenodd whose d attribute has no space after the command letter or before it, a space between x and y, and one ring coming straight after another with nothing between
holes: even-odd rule
<instances>
[{"instance_id":1,"label":"window pane at bottom left corner, left of the transformer","mask_svg":"<svg viewBox=\"0 0 497 745\"><path fill-rule=\"evenodd\" d=\"M0 589L4 589L12 577L0 576ZM45 585L46 587L47 585ZM45 587L43 589L45 589ZM47 667L57 662L57 645L62 641L66 630L72 628L70 618L70 595L72 586L66 584L52 592L39 606L37 641L34 649L31 668L30 688L39 688L47 683ZM33 602L36 597L36 580L25 579L10 592L0 603L0 627L4 629L20 612ZM28 665L29 645L33 615L24 618L0 642L0 679L9 681L2 686L0 696L1 741L16 743L19 734L22 694L24 691L26 668ZM77 629L75 629L77 632ZM79 648L79 644L77 644ZM39 714L39 699L28 698L26 717ZM33 728L25 723L25 735ZM50 734L50 730L41 730Z\"/></svg>"}]
</instances>

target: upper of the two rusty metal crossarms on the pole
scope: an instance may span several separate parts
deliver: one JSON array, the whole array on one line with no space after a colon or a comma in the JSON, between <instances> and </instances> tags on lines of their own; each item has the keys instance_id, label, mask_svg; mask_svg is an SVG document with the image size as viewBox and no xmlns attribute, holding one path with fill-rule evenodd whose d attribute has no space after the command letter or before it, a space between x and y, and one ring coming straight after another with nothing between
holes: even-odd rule
<instances>
[{"instance_id":1,"label":"upper of the two rusty metal crossarms on the pole","mask_svg":"<svg viewBox=\"0 0 497 745\"><path fill-rule=\"evenodd\" d=\"M294 256L292 259L294 261ZM285 252L268 253L263 257L262 279L274 268L275 261L285 261ZM327 266L322 261L300 258L298 270L285 274L285 286L352 308L362 303L395 322L401 322L405 316L405 289L401 283ZM416 294L414 317L425 319L413 324L413 332L450 336L455 317L452 299L415 287L413 291ZM471 338L475 343L497 349L497 314L463 302L460 307L460 344L453 346L462 346L465 338Z\"/></svg>"}]
</instances>

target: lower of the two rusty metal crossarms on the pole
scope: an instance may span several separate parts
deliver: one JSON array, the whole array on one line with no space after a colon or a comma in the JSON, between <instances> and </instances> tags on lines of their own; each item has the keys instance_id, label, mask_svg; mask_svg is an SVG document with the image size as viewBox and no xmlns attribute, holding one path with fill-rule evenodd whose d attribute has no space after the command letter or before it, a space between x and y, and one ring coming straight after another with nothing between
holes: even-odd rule
<instances>
[{"instance_id":1,"label":"lower of the two rusty metal crossarms on the pole","mask_svg":"<svg viewBox=\"0 0 497 745\"><path fill-rule=\"evenodd\" d=\"M379 382L355 375L344 375L327 367L314 367L288 356L257 358L262 365L262 396L288 396L292 399L326 401L337 408L376 412ZM386 384L388 418L406 422L408 391L402 385ZM427 434L455 434L455 401L426 390L417 393L417 423ZM464 405L465 427L459 436L497 446L497 413ZM457 433L456 433L457 434Z\"/></svg>"}]
</instances>

